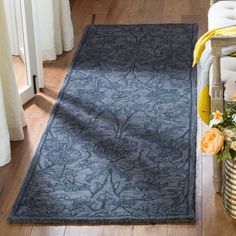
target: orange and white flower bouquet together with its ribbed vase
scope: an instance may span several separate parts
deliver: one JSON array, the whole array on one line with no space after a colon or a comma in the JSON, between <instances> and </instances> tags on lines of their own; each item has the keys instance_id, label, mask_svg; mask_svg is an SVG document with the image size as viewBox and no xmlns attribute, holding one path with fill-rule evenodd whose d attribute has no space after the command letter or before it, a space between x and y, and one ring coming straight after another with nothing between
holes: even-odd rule
<instances>
[{"instance_id":1,"label":"orange and white flower bouquet together with its ribbed vase","mask_svg":"<svg viewBox=\"0 0 236 236\"><path fill-rule=\"evenodd\" d=\"M223 205L225 212L236 219L236 101L230 103L222 114L213 112L210 116L210 127L201 140L201 149L209 155L216 155L223 164ZM214 165L215 165L214 160ZM221 179L220 169L214 170L214 177ZM220 170L221 171L221 170ZM234 200L232 200L234 199Z\"/></svg>"}]
</instances>

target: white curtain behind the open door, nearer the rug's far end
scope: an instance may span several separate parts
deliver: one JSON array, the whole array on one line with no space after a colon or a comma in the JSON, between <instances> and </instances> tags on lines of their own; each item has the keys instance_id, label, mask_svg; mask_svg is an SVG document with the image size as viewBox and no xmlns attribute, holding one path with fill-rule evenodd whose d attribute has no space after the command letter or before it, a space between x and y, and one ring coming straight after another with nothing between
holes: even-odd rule
<instances>
[{"instance_id":1,"label":"white curtain behind the open door, nearer the rug's far end","mask_svg":"<svg viewBox=\"0 0 236 236\"><path fill-rule=\"evenodd\" d=\"M74 47L69 0L35 1L43 61L55 60Z\"/></svg>"}]
</instances>

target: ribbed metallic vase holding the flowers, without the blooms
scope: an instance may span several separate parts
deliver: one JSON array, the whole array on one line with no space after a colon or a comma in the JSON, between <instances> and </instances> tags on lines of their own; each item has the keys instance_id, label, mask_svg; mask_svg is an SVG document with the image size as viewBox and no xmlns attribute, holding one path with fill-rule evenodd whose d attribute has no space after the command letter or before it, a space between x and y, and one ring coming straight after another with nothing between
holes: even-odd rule
<instances>
[{"instance_id":1,"label":"ribbed metallic vase holding the flowers, without the blooms","mask_svg":"<svg viewBox=\"0 0 236 236\"><path fill-rule=\"evenodd\" d=\"M223 204L225 212L236 219L236 161L224 161Z\"/></svg>"}]
</instances>

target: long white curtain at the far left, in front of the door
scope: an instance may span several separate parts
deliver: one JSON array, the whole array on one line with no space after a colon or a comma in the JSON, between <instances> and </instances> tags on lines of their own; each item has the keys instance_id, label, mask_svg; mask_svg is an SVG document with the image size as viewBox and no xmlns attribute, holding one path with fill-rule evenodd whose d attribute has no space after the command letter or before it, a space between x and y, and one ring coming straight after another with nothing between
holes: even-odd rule
<instances>
[{"instance_id":1,"label":"long white curtain at the far left, in front of the door","mask_svg":"<svg viewBox=\"0 0 236 236\"><path fill-rule=\"evenodd\" d=\"M13 71L3 1L0 0L0 166L11 160L10 139L22 140L26 125Z\"/></svg>"}]
</instances>

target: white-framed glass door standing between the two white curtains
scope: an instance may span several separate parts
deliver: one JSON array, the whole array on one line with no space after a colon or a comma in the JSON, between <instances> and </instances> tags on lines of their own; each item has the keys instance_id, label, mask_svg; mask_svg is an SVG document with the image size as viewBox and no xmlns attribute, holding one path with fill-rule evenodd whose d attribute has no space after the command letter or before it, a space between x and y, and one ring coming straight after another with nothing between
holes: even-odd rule
<instances>
[{"instance_id":1,"label":"white-framed glass door standing between the two white curtains","mask_svg":"<svg viewBox=\"0 0 236 236\"><path fill-rule=\"evenodd\" d=\"M4 0L13 68L22 103L34 97L42 85L43 66L37 38L37 22L31 0ZM42 86L41 86L42 87Z\"/></svg>"}]
</instances>

